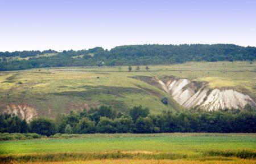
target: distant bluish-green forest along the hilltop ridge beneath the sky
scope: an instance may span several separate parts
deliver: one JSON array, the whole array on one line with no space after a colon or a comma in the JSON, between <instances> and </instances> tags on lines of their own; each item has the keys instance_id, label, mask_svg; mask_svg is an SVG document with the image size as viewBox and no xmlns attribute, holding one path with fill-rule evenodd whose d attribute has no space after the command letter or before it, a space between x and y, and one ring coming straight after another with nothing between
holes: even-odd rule
<instances>
[{"instance_id":1,"label":"distant bluish-green forest along the hilltop ridge beneath the sky","mask_svg":"<svg viewBox=\"0 0 256 164\"><path fill-rule=\"evenodd\" d=\"M96 47L88 50L62 51L52 57L30 58L28 60L3 60L3 57L20 57L49 53L48 51L22 51L0 53L0 71L23 70L38 67L64 66L122 66L172 64L189 61L254 61L255 47L243 47L232 44L214 45L129 45L117 46L111 50ZM51 53L57 53L51 50ZM27 54L27 55L26 55ZM81 57L78 57L82 55ZM75 57L75 58L74 58Z\"/></svg>"}]
</instances>

